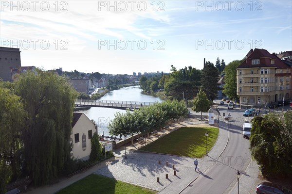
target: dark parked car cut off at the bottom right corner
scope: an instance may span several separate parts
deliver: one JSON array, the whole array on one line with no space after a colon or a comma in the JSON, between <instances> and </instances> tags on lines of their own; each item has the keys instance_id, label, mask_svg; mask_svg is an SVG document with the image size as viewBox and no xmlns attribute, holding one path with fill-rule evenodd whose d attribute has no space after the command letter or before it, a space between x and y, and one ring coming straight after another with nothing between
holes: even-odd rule
<instances>
[{"instance_id":1,"label":"dark parked car cut off at the bottom right corner","mask_svg":"<svg viewBox=\"0 0 292 194\"><path fill-rule=\"evenodd\" d=\"M257 194L291 194L291 191L281 185L271 182L261 182L256 186Z\"/></svg>"}]
</instances>

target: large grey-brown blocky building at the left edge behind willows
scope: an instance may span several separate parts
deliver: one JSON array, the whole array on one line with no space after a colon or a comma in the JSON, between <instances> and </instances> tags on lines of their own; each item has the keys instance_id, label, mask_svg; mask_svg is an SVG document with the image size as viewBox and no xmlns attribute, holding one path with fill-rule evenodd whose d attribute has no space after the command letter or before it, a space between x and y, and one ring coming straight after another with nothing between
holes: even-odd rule
<instances>
[{"instance_id":1,"label":"large grey-brown blocky building at the left edge behind willows","mask_svg":"<svg viewBox=\"0 0 292 194\"><path fill-rule=\"evenodd\" d=\"M0 78L3 81L17 79L21 72L20 51L16 48L0 47Z\"/></svg>"}]
</instances>

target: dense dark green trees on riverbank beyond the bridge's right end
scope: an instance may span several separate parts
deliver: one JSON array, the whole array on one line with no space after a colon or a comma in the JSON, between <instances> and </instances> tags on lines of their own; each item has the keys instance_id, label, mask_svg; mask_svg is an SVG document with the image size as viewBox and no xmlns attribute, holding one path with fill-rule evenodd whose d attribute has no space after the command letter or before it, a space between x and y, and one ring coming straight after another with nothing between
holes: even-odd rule
<instances>
[{"instance_id":1,"label":"dense dark green trees on riverbank beyond the bridge's right end","mask_svg":"<svg viewBox=\"0 0 292 194\"><path fill-rule=\"evenodd\" d=\"M219 58L218 58L219 60ZM222 67L225 68L225 62L222 60ZM140 78L140 86L144 92L154 93L157 89L163 88L164 93L169 99L182 100L193 99L197 96L200 88L205 92L207 98L214 100L219 91L219 69L211 62L206 62L202 70L192 66L177 70L171 65L171 73L160 77L147 79L145 76Z\"/></svg>"}]
</instances>

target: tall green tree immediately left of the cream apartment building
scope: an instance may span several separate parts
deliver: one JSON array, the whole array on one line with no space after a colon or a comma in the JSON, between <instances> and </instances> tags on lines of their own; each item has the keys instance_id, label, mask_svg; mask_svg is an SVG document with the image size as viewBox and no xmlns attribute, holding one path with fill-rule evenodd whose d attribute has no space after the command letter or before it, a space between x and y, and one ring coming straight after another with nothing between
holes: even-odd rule
<instances>
[{"instance_id":1,"label":"tall green tree immediately left of the cream apartment building","mask_svg":"<svg viewBox=\"0 0 292 194\"><path fill-rule=\"evenodd\" d=\"M235 61L230 62L225 67L225 75L224 75L225 85L223 85L223 93L229 98L238 99L236 68L238 65L240 65L240 63L241 61L235 60Z\"/></svg>"}]
</instances>

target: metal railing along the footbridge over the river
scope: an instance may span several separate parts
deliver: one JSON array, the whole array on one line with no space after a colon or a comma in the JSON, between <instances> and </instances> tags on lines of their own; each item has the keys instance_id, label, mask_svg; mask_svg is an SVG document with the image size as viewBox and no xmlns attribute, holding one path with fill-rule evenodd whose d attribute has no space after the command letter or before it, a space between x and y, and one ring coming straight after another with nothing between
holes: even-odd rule
<instances>
[{"instance_id":1,"label":"metal railing along the footbridge over the river","mask_svg":"<svg viewBox=\"0 0 292 194\"><path fill-rule=\"evenodd\" d=\"M108 107L125 107L125 108L140 108L149 106L154 102L138 102L138 101L120 101L120 100L75 100L75 105L91 105L91 106L108 106Z\"/></svg>"}]
</instances>

